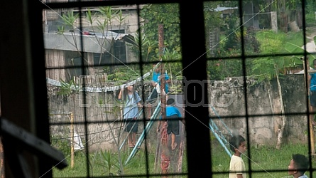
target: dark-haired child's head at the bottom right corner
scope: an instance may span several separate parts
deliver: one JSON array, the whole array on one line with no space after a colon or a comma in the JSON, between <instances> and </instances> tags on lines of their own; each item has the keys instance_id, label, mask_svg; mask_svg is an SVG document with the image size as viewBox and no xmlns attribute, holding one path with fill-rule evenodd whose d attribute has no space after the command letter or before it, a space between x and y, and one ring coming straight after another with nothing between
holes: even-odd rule
<instances>
[{"instance_id":1,"label":"dark-haired child's head at the bottom right corner","mask_svg":"<svg viewBox=\"0 0 316 178\"><path fill-rule=\"evenodd\" d=\"M288 174L294 178L308 178L307 175L305 175L308 167L309 161L307 157L300 154L294 154L290 160L290 165L288 165Z\"/></svg>"}]
</instances>

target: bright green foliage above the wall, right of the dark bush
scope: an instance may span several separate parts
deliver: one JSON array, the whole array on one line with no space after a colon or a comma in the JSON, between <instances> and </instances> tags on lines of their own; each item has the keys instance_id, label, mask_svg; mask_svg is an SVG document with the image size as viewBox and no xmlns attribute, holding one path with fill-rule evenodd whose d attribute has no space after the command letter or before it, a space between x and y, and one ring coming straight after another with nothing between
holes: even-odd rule
<instances>
[{"instance_id":1,"label":"bright green foliage above the wall, right of the dark bush","mask_svg":"<svg viewBox=\"0 0 316 178\"><path fill-rule=\"evenodd\" d=\"M261 43L262 54L275 53L301 53L297 56L268 56L265 58L255 58L253 62L251 75L256 75L258 81L271 80L280 75L285 68L295 67L302 64L300 56L303 56L303 33L275 33L273 31L258 31L256 34Z\"/></svg>"}]
</instances>

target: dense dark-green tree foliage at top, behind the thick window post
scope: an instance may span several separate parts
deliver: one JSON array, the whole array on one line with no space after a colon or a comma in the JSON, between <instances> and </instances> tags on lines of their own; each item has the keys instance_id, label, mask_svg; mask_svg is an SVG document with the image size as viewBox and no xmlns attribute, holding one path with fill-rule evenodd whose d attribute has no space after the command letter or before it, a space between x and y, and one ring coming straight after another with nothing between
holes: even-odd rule
<instances>
[{"instance_id":1,"label":"dense dark-green tree foliage at top, behind the thick window post","mask_svg":"<svg viewBox=\"0 0 316 178\"><path fill-rule=\"evenodd\" d=\"M207 29L219 26L222 22L220 13L212 11L219 2L206 2L205 5L205 26ZM181 58L180 41L180 19L178 4L148 4L141 9L141 19L143 26L139 29L141 36L136 35L134 41L136 45L132 46L136 56L142 54L143 61L158 61L160 59L158 46L158 24L163 25L164 49L163 61L174 61ZM207 33L207 36L209 34ZM207 43L208 44L208 43ZM141 46L139 46L141 45ZM139 51L139 49L142 51ZM175 77L182 75L182 66L180 63L173 63L166 66L175 74ZM117 75L114 77L118 77ZM173 77L173 76L171 76Z\"/></svg>"}]
</instances>

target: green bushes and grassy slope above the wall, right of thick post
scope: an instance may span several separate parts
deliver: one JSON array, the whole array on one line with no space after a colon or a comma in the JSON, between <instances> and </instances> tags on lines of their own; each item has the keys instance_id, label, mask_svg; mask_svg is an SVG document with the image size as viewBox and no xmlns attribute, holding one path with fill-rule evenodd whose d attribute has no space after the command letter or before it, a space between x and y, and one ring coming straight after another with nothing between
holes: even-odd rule
<instances>
[{"instance_id":1,"label":"green bushes and grassy slope above the wall, right of thick post","mask_svg":"<svg viewBox=\"0 0 316 178\"><path fill-rule=\"evenodd\" d=\"M227 21L231 28L236 28L233 18ZM312 32L312 31L311 31ZM300 57L304 56L303 31L278 33L271 30L254 31L254 29L244 29L244 41L248 46L245 48L247 56L257 56L246 58L246 62L241 60L240 33L230 32L221 36L217 58L208 62L209 78L213 80L222 80L227 77L238 77L244 75L256 75L259 80L263 78L276 78L276 75L285 73L287 68L293 68L302 65ZM307 42L308 39L306 40ZM226 49L226 50L225 50ZM296 53L296 55L291 55ZM275 56L283 54L284 56ZM261 57L263 56L263 57ZM310 56L310 62L314 57ZM246 65L243 68L243 65Z\"/></svg>"}]
</instances>

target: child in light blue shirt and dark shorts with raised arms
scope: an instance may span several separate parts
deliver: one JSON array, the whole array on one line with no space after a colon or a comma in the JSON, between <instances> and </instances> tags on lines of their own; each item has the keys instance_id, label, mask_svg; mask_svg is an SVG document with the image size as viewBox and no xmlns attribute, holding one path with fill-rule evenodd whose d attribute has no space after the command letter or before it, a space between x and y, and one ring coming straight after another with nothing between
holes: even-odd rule
<instances>
[{"instance_id":1,"label":"child in light blue shirt and dark shorts with raised arms","mask_svg":"<svg viewBox=\"0 0 316 178\"><path fill-rule=\"evenodd\" d=\"M118 99L124 102L124 131L129 132L129 147L134 148L136 145L136 133L138 132L138 111L143 107L141 105L141 97L134 91L134 85L129 85L127 88L122 88L119 91Z\"/></svg>"}]
</instances>

